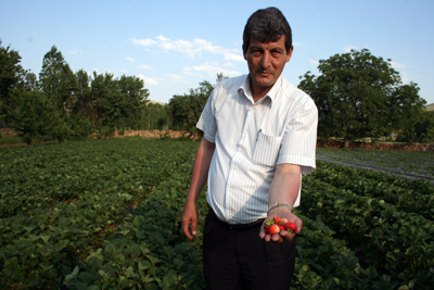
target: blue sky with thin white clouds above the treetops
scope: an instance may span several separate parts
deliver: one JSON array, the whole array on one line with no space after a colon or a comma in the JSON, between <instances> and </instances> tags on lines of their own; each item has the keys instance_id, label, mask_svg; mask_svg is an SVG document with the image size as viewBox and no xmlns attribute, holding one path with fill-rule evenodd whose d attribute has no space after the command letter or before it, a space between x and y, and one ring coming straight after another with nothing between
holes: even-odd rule
<instances>
[{"instance_id":1,"label":"blue sky with thin white clouds above the treetops","mask_svg":"<svg viewBox=\"0 0 434 290\"><path fill-rule=\"evenodd\" d=\"M283 76L297 85L319 60L363 48L392 59L405 84L434 103L434 1L62 1L0 0L0 39L39 75L52 46L71 68L138 76L150 99L168 102L217 73L247 73L242 31L257 9L277 7L292 29Z\"/></svg>"}]
</instances>

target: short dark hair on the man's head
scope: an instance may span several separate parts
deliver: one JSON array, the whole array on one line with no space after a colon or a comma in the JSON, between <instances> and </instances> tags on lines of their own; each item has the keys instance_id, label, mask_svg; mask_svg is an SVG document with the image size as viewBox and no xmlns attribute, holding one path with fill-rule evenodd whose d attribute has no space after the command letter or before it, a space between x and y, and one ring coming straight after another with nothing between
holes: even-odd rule
<instances>
[{"instance_id":1,"label":"short dark hair on the man's head","mask_svg":"<svg viewBox=\"0 0 434 290\"><path fill-rule=\"evenodd\" d=\"M292 47L292 30L283 13L273 7L259 9L253 13L244 26L243 47L244 53L251 45L251 39L259 42L278 41L285 36L285 49Z\"/></svg>"}]
</instances>

